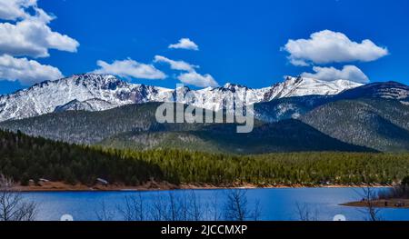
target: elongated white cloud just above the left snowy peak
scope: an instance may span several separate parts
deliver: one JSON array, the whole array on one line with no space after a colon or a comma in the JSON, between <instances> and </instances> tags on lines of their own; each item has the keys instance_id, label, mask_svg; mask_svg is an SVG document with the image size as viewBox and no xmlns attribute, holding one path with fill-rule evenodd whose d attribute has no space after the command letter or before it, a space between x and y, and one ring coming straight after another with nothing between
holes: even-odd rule
<instances>
[{"instance_id":1,"label":"elongated white cloud just above the left snowy peak","mask_svg":"<svg viewBox=\"0 0 409 239\"><path fill-rule=\"evenodd\" d=\"M115 61L113 64L108 64L105 61L96 63L100 69L94 71L95 74L110 74L118 75L125 78L141 78L141 79L165 79L165 73L156 69L154 65L138 63L132 59L124 61Z\"/></svg>"}]
</instances>

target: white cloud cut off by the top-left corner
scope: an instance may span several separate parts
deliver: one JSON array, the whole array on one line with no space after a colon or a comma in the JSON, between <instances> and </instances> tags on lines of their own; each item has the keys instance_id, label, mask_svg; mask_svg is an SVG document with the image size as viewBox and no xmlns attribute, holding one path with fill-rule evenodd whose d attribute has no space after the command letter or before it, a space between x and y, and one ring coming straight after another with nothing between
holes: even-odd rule
<instances>
[{"instance_id":1,"label":"white cloud cut off by the top-left corner","mask_svg":"<svg viewBox=\"0 0 409 239\"><path fill-rule=\"evenodd\" d=\"M36 7L36 0L0 0L0 19L17 20L26 18L26 8Z\"/></svg>"}]
</instances>

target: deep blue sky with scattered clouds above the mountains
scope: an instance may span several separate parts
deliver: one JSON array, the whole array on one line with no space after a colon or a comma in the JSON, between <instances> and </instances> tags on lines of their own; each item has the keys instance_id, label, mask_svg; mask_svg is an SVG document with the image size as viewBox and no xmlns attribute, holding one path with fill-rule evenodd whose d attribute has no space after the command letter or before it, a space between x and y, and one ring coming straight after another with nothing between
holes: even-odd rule
<instances>
[{"instance_id":1,"label":"deep blue sky with scattered clouds above the mountains","mask_svg":"<svg viewBox=\"0 0 409 239\"><path fill-rule=\"evenodd\" d=\"M4 1L9 0L0 0L0 7ZM351 77L362 82L394 80L409 84L409 1L406 0L34 2L36 5L24 8L26 14L35 15L34 8L55 15L55 19L44 20L43 24L69 39L56 37L42 45L48 52L46 56L26 48L15 53L6 48L11 46L4 44L2 48L0 41L0 55L10 55L11 61L22 65L25 64L22 58L31 61L29 70L38 66L33 64L35 61L45 71L43 78L97 70L115 73L135 83L165 87L175 87L180 81L194 87L227 82L263 87L282 81L284 75L311 75L315 70L319 72L317 77L324 80ZM17 25L26 17L4 14L2 18L0 9L3 24ZM311 41L314 33L318 35ZM344 43L345 49L335 49L332 54L329 50L323 53L323 49L312 49L317 41L319 46L322 39L329 37L331 41L340 34L350 40ZM0 36L9 37L2 35L1 29ZM181 38L189 38L198 50L169 48ZM290 39L296 41L294 49L304 47L298 49L302 52L285 48ZM372 45L364 44L366 39ZM64 43L55 43L57 40ZM333 51L333 48L328 49ZM171 69L169 61L154 62L155 55L199 67ZM291 55L294 57L289 58ZM318 57L322 55L324 59ZM294 65L291 59L302 64ZM102 62L97 65L98 61L104 61L106 67L101 66ZM115 61L117 65L113 64ZM355 68L342 71L345 65ZM146 68L150 66L153 68ZM8 68L0 65L0 77L2 70ZM138 76L141 74L151 75L152 79L142 79ZM3 73L0 94L42 81L41 74L23 80L17 76Z\"/></svg>"}]
</instances>

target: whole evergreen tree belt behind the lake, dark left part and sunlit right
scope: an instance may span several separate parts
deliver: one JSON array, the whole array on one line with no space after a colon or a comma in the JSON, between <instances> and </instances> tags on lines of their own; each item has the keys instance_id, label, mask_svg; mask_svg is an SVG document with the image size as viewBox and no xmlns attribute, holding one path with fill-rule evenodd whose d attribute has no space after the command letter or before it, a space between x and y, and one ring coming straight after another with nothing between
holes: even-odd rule
<instances>
[{"instance_id":1,"label":"whole evergreen tree belt behind the lake, dark left part and sunlit right","mask_svg":"<svg viewBox=\"0 0 409 239\"><path fill-rule=\"evenodd\" d=\"M68 184L392 184L409 172L409 154L209 154L132 151L55 142L0 131L0 173L20 184L46 178Z\"/></svg>"}]
</instances>

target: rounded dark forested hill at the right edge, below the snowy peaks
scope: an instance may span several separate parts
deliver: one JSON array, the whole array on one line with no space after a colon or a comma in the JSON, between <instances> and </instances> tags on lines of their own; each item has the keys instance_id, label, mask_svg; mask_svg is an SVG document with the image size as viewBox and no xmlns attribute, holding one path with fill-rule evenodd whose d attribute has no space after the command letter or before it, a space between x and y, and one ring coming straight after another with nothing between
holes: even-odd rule
<instances>
[{"instance_id":1,"label":"rounded dark forested hill at the right edge, below the snowy peaks","mask_svg":"<svg viewBox=\"0 0 409 239\"><path fill-rule=\"evenodd\" d=\"M384 152L409 151L409 105L400 101L337 101L315 108L301 120L349 144Z\"/></svg>"}]
</instances>

